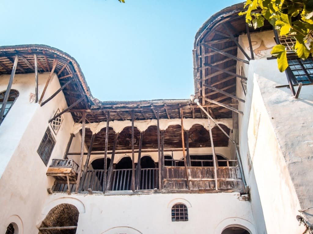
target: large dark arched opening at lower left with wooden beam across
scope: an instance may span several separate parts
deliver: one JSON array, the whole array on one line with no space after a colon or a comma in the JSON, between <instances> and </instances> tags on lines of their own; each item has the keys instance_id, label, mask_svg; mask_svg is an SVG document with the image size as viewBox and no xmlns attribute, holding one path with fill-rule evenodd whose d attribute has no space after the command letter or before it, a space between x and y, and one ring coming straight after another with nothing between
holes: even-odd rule
<instances>
[{"instance_id":1,"label":"large dark arched opening at lower left with wooden beam across","mask_svg":"<svg viewBox=\"0 0 313 234\"><path fill-rule=\"evenodd\" d=\"M49 211L41 223L39 231L42 234L75 234L78 216L79 211L74 205L67 203L59 204Z\"/></svg>"}]
</instances>

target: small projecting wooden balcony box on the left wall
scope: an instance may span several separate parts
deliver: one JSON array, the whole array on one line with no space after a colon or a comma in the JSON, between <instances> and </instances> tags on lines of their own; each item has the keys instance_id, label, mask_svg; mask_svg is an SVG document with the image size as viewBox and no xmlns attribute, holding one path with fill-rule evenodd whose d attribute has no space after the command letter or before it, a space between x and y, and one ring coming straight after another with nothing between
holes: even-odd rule
<instances>
[{"instance_id":1,"label":"small projecting wooden balcony box on the left wall","mask_svg":"<svg viewBox=\"0 0 313 234\"><path fill-rule=\"evenodd\" d=\"M55 176L58 180L76 181L78 165L73 159L52 159L52 163L47 170L48 176Z\"/></svg>"}]
</instances>

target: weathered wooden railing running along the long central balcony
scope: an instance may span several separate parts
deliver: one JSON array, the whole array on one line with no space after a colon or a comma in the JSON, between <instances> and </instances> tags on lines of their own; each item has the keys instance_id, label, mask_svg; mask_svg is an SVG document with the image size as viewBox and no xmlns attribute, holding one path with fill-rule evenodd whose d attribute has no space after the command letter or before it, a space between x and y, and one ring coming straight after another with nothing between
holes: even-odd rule
<instances>
[{"instance_id":1,"label":"weathered wooden railing running along the long central balcony","mask_svg":"<svg viewBox=\"0 0 313 234\"><path fill-rule=\"evenodd\" d=\"M62 160L61 160L62 161ZM172 160L172 165L176 165L181 160ZM205 190L207 192L214 192L216 186L219 191L234 191L243 192L243 182L240 173L237 160L218 160L219 165L217 167L217 184L215 184L214 167L205 166L213 163L213 160L193 160L193 163L197 162L204 166L192 166L187 167L189 187L187 186L187 173L184 166L164 166L162 174L162 188L165 192L170 191L184 191L195 192L197 190ZM71 163L53 162L54 165L60 164L70 167ZM225 166L224 166L225 165ZM136 171L136 170L135 170ZM108 171L107 171L108 172ZM139 190L152 190L159 189L158 186L158 168L141 168L139 178L135 178L138 181ZM135 173L136 175L136 173ZM108 175L107 175L108 178ZM110 185L108 191L130 191L132 188L132 169L114 169L112 172L111 181L107 183ZM103 191L104 170L88 170L86 174L83 174L81 179L81 192L87 192L90 188L93 192ZM137 182L136 182L137 183ZM66 184L66 181L56 181L53 186L54 192L65 192L69 188L70 192L73 192L76 188L76 184Z\"/></svg>"}]
</instances>

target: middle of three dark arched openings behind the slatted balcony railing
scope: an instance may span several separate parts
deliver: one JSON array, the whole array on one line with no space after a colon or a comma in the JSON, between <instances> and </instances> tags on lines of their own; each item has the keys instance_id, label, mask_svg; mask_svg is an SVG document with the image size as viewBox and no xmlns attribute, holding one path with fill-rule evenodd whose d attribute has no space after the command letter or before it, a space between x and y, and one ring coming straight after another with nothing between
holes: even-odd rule
<instances>
[{"instance_id":1,"label":"middle of three dark arched openings behind the slatted balcony railing","mask_svg":"<svg viewBox=\"0 0 313 234\"><path fill-rule=\"evenodd\" d=\"M123 157L113 170L112 190L131 190L132 161L130 157Z\"/></svg>"}]
</instances>

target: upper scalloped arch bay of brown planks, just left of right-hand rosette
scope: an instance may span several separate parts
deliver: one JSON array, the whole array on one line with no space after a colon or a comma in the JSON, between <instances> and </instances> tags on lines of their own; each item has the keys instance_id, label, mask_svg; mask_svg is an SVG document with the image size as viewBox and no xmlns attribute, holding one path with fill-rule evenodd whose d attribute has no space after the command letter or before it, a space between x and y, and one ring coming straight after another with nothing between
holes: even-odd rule
<instances>
[{"instance_id":1,"label":"upper scalloped arch bay of brown planks, just left of right-hand rosette","mask_svg":"<svg viewBox=\"0 0 313 234\"><path fill-rule=\"evenodd\" d=\"M170 125L164 131L164 148L182 148L182 127Z\"/></svg>"}]
</instances>

